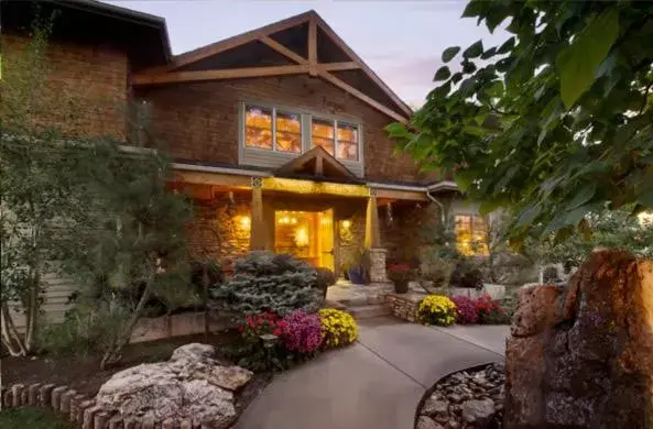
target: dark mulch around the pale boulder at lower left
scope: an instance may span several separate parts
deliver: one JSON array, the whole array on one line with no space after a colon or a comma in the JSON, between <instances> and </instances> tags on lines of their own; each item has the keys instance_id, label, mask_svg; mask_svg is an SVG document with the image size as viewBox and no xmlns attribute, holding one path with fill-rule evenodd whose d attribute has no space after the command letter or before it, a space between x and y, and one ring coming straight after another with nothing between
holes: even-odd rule
<instances>
[{"instance_id":1,"label":"dark mulch around the pale boulder at lower left","mask_svg":"<svg viewBox=\"0 0 653 429\"><path fill-rule=\"evenodd\" d=\"M56 384L67 385L78 393L95 396L102 384L113 374L141 363L166 361L172 352L192 342L208 343L220 350L221 344L233 340L233 332L211 333L206 341L205 336L176 337L166 340L129 344L122 351L122 359L116 365L100 370L101 356L52 358L47 355L28 358L2 358L2 384ZM259 394L272 380L268 373L257 374L247 386L238 393L236 407L238 413Z\"/></svg>"}]
</instances>

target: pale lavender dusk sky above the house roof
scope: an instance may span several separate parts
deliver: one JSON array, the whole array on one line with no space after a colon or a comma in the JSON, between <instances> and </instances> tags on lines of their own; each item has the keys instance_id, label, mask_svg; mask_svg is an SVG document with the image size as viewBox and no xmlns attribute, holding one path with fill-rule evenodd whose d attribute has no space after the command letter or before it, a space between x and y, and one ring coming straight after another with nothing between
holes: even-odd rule
<instances>
[{"instance_id":1,"label":"pale lavender dusk sky above the house roof","mask_svg":"<svg viewBox=\"0 0 653 429\"><path fill-rule=\"evenodd\" d=\"M476 20L461 19L466 1L243 1L111 0L108 3L165 18L173 54L179 54L314 9L342 40L412 106L433 89L440 53L483 40L501 43Z\"/></svg>"}]
</instances>

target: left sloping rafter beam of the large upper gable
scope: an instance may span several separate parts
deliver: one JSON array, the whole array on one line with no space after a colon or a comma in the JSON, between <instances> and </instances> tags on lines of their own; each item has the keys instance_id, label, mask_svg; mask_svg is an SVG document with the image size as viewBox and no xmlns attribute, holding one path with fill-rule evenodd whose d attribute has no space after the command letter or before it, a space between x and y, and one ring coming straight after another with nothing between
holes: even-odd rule
<instances>
[{"instance_id":1,"label":"left sloping rafter beam of the large upper gable","mask_svg":"<svg viewBox=\"0 0 653 429\"><path fill-rule=\"evenodd\" d=\"M184 54L177 55L173 58L172 64L168 67L168 70L177 69L182 66L185 66L191 63L195 63L199 59L204 59L208 56L219 54L220 52L225 52L227 50L231 50L232 47L240 46L248 42L252 42L261 36L270 35L272 33L280 32L282 30L289 29L291 26L295 26L302 24L315 14L313 11L308 11L296 16L291 16L289 19L272 23L270 25L262 26L257 30L248 31L247 33L242 33L236 35L233 37L225 38L224 41L211 43L210 45L202 46L197 50L186 52Z\"/></svg>"}]
</instances>

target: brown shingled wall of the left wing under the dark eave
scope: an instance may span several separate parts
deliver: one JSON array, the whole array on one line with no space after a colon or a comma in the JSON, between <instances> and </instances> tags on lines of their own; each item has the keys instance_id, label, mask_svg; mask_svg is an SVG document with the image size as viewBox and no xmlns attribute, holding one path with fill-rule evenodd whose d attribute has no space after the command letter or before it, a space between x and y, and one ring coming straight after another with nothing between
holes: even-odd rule
<instances>
[{"instance_id":1,"label":"brown shingled wall of the left wing under the dark eave","mask_svg":"<svg viewBox=\"0 0 653 429\"><path fill-rule=\"evenodd\" d=\"M2 94L9 106L11 88L24 78L29 40L2 35ZM85 46L51 41L44 85L35 94L33 120L67 135L126 134L129 64L124 52L109 46Z\"/></svg>"}]
</instances>

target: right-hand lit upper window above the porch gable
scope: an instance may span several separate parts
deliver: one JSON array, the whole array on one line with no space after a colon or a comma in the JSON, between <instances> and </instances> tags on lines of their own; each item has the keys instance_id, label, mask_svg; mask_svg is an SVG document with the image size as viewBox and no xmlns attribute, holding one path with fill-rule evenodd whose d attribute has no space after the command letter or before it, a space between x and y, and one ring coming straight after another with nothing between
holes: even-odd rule
<instances>
[{"instance_id":1,"label":"right-hand lit upper window above the porch gable","mask_svg":"<svg viewBox=\"0 0 653 429\"><path fill-rule=\"evenodd\" d=\"M358 125L338 120L312 118L312 146L322 146L338 160L358 161Z\"/></svg>"}]
</instances>

